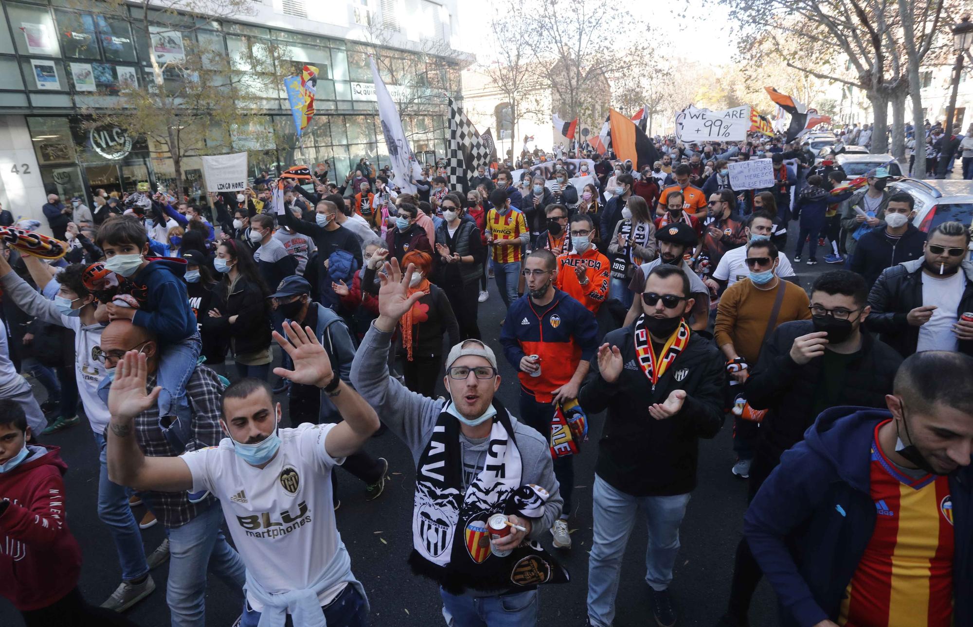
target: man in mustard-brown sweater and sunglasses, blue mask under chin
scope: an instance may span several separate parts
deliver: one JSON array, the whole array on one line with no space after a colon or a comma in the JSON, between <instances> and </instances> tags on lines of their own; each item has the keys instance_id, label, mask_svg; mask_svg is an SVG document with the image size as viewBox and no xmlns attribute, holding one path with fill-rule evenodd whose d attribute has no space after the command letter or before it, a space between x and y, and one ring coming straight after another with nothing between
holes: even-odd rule
<instances>
[{"instance_id":1,"label":"man in mustard-brown sweater and sunglasses, blue mask under chin","mask_svg":"<svg viewBox=\"0 0 973 627\"><path fill-rule=\"evenodd\" d=\"M726 356L731 385L746 381L757 365L764 340L778 325L811 318L807 293L776 275L778 263L774 242L769 239L750 242L746 247L749 277L734 283L720 298L713 338ZM733 448L737 463L733 473L744 479L750 473L756 439L757 423L735 416Z\"/></svg>"}]
</instances>

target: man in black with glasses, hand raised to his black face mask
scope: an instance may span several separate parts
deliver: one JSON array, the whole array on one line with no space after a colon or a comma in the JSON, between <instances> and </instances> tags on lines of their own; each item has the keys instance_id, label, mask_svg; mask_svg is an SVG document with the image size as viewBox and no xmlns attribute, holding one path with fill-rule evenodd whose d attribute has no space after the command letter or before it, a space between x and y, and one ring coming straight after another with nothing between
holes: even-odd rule
<instances>
[{"instance_id":1,"label":"man in black with glasses, hand raised to his black face mask","mask_svg":"<svg viewBox=\"0 0 973 627\"><path fill-rule=\"evenodd\" d=\"M780 463L781 454L804 439L818 414L841 405L885 406L902 358L862 329L871 314L867 294L864 279L854 272L824 272L811 287L811 320L785 322L768 336L759 366L743 384L749 405L767 410L749 469L748 501ZM740 540L721 626L747 624L761 576L749 545Z\"/></svg>"}]
</instances>

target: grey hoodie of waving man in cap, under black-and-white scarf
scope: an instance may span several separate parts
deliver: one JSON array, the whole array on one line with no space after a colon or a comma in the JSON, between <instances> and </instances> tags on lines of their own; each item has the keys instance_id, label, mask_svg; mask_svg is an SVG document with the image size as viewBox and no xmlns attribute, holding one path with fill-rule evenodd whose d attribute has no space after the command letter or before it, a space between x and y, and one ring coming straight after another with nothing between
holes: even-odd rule
<instances>
[{"instance_id":1,"label":"grey hoodie of waving man in cap, under black-and-white scarf","mask_svg":"<svg viewBox=\"0 0 973 627\"><path fill-rule=\"evenodd\" d=\"M351 364L351 385L375 408L378 419L409 446L413 453L413 462L417 464L422 451L432 438L433 427L436 426L446 401L415 394L388 375L388 348L391 339L392 333L378 331L375 323L372 324ZM539 485L551 495L544 505L544 515L533 520L531 524L530 538L537 539L554 524L560 515L563 500L560 498L558 479L554 476L551 448L547 441L513 415L510 416L510 422L514 426L514 436L521 452L521 482ZM467 481L472 470L479 471L483 468L487 439L470 439L459 435Z\"/></svg>"}]
</instances>

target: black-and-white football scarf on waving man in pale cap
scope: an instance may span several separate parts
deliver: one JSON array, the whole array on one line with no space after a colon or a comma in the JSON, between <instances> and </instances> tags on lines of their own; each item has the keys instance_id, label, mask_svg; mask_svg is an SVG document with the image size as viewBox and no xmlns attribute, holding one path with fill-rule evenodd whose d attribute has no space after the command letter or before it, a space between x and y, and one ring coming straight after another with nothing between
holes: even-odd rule
<instances>
[{"instance_id":1,"label":"black-and-white football scarf on waving man in pale cap","mask_svg":"<svg viewBox=\"0 0 973 627\"><path fill-rule=\"evenodd\" d=\"M540 543L524 541L510 554L492 553L487 519L496 513L539 518L548 492L522 485L521 451L510 415L493 401L483 470L465 488L459 421L440 413L432 437L416 464L413 506L413 570L435 579L453 594L466 588L509 590L567 581L567 572Z\"/></svg>"}]
</instances>

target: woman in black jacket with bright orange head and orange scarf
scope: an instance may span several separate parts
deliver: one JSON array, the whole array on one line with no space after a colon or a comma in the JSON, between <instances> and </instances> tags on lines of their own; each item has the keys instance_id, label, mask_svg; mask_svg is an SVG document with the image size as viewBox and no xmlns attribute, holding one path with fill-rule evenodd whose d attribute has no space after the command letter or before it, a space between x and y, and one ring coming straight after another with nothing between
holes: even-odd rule
<instances>
[{"instance_id":1,"label":"woman in black jacket with bright orange head and orange scarf","mask_svg":"<svg viewBox=\"0 0 973 627\"><path fill-rule=\"evenodd\" d=\"M443 336L449 335L452 346L459 342L459 325L452 313L446 293L429 283L432 256L423 251L410 251L402 256L402 267L415 266L408 293L423 293L413 308L399 322L402 339L402 374L406 387L426 397L436 398L436 382L442 377Z\"/></svg>"}]
</instances>

